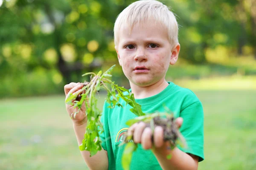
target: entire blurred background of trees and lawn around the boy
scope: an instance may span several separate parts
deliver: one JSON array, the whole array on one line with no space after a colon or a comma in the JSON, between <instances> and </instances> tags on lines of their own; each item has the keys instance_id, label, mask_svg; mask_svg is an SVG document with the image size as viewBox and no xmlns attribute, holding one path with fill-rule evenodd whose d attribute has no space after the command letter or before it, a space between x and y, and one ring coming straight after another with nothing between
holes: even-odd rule
<instances>
[{"instance_id":1,"label":"entire blurred background of trees and lawn around the boy","mask_svg":"<svg viewBox=\"0 0 256 170\"><path fill-rule=\"evenodd\" d=\"M0 169L87 169L64 85L116 64L116 16L134 0L0 0ZM256 166L256 0L162 0L177 15L181 51L166 79L204 106L199 170ZM105 94L99 95L99 107Z\"/></svg>"}]
</instances>

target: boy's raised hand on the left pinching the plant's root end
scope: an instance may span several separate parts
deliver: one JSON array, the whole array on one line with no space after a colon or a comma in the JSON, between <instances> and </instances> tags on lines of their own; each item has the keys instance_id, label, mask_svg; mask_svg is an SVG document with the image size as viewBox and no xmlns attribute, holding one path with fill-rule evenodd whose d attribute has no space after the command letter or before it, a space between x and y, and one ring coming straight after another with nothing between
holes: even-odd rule
<instances>
[{"instance_id":1,"label":"boy's raised hand on the left pinching the plant's root end","mask_svg":"<svg viewBox=\"0 0 256 170\"><path fill-rule=\"evenodd\" d=\"M64 86L64 91L65 91L66 99L71 93L72 94L74 94L74 93L82 94L83 91L81 91L81 88L83 88L83 86L84 86L84 84L80 83L80 82L78 82L78 83L71 82L70 84L65 85ZM74 119L74 116L72 115L72 113L75 112L75 111L78 111L78 108L74 108L73 105L66 104L66 109L67 109L67 113L69 114L69 116L70 117L72 116L72 120L73 120L74 124L82 125L82 124L87 122L86 121L87 117L86 117L86 114L85 114L85 104L84 103L83 103L79 113L76 114L75 119Z\"/></svg>"}]
</instances>

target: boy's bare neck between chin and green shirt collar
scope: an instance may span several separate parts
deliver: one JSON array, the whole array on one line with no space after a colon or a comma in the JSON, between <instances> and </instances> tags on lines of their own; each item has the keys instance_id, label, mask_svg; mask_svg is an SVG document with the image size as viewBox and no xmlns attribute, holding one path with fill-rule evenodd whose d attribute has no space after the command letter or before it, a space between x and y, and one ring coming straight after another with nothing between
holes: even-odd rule
<instances>
[{"instance_id":1,"label":"boy's bare neck between chin and green shirt collar","mask_svg":"<svg viewBox=\"0 0 256 170\"><path fill-rule=\"evenodd\" d=\"M131 92L134 94L134 98L144 99L159 94L169 85L169 83L165 79L162 79L159 82L156 82L155 84L146 87L134 85L132 82L130 82L130 85Z\"/></svg>"}]
</instances>

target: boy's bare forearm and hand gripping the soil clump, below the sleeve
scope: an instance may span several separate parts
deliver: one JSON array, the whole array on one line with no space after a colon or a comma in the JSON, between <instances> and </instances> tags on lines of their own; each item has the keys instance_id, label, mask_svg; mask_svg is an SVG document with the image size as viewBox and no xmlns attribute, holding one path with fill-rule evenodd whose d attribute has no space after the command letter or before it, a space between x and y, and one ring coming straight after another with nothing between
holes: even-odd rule
<instances>
[{"instance_id":1,"label":"boy's bare forearm and hand gripping the soil clump, below the sleeve","mask_svg":"<svg viewBox=\"0 0 256 170\"><path fill-rule=\"evenodd\" d=\"M183 123L183 119L177 118L175 123L180 127ZM185 153L177 147L173 150L168 149L169 143L163 142L162 127L156 127L154 130L154 147L152 147L153 143L151 142L151 129L150 127L145 127L145 123L135 123L129 128L128 133L131 134L132 131L134 131L134 142L141 143L144 149L151 149L163 170L198 169L198 156ZM170 154L171 159L167 159Z\"/></svg>"}]
</instances>

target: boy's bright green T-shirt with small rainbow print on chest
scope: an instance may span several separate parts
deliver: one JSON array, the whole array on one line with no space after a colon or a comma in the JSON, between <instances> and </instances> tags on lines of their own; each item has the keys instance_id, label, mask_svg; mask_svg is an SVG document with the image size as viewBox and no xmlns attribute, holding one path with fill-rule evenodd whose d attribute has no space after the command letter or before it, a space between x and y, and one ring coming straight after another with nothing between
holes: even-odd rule
<instances>
[{"instance_id":1,"label":"boy's bright green T-shirt with small rainbow print on chest","mask_svg":"<svg viewBox=\"0 0 256 170\"><path fill-rule=\"evenodd\" d=\"M182 117L183 124L180 132L186 139L188 149L180 148L183 152L199 156L199 161L204 160L204 112L197 96L186 88L181 88L172 82L157 95L136 99L144 113L164 112L167 106L174 112L175 117ZM125 101L119 101L122 107L108 108L105 102L101 121L104 133L101 134L102 148L108 152L109 170L122 170L122 152L125 145L119 146L124 139L124 133L128 130L125 125L129 119L136 116L131 113L130 105ZM131 160L131 170L161 170L161 167L151 150L144 150L138 145Z\"/></svg>"}]
</instances>

